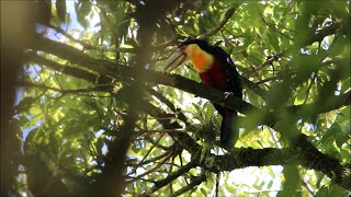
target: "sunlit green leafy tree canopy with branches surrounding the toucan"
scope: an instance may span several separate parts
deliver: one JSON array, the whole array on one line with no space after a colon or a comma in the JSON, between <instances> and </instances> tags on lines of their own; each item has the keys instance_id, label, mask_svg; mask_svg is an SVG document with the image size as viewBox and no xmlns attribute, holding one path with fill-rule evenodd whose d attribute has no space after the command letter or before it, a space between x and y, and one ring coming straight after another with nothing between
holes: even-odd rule
<instances>
[{"instance_id":1,"label":"sunlit green leafy tree canopy with branches surrounding the toucan","mask_svg":"<svg viewBox=\"0 0 351 197\"><path fill-rule=\"evenodd\" d=\"M351 189L350 1L31 3L35 32L15 80L1 194ZM242 100L201 83L190 65L161 72L189 37L231 56ZM240 113L230 151L219 148L211 102Z\"/></svg>"}]
</instances>

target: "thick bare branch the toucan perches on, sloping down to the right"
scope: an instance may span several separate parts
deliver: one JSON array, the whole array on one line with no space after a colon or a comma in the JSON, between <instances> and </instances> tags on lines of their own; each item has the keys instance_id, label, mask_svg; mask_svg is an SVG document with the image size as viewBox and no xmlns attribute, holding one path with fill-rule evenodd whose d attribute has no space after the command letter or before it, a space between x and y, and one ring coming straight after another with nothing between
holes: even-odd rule
<instances>
[{"instance_id":1,"label":"thick bare branch the toucan perches on, sloping down to the right","mask_svg":"<svg viewBox=\"0 0 351 197\"><path fill-rule=\"evenodd\" d=\"M160 72L145 70L135 67L117 66L114 62L92 58L86 54L82 54L82 51L78 50L77 48L54 40L49 40L47 38L39 38L39 40L36 43L39 43L39 45L34 46L36 49L56 55L73 63L84 66L86 68L91 69L100 73L101 76L110 76L112 78L125 80L134 79L135 82L140 83L145 83L147 81L156 84L173 86L185 92L195 94L196 96L207 99L213 103L225 105L228 108L240 112L241 114L254 112L256 114L261 114L261 117L265 117L265 119L261 120L260 123L257 123L258 125L272 125L276 121L274 113L272 112L265 113L262 109L247 102L244 102L242 100L239 100L237 97L226 97L225 93L218 89L214 89L212 86L194 82L181 76L162 74ZM331 103L330 107L327 108L336 109L342 105L344 105L344 103ZM302 108L303 106L305 105L302 105L299 107L291 106L286 109L292 112L291 109Z\"/></svg>"}]
</instances>

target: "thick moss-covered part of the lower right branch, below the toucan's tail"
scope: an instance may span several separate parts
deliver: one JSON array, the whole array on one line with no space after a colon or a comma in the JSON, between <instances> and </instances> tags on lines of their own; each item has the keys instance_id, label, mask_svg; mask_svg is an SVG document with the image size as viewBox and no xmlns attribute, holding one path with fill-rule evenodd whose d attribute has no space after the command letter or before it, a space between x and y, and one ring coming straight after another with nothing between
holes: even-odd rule
<instances>
[{"instance_id":1,"label":"thick moss-covered part of the lower right branch, below the toucan's tail","mask_svg":"<svg viewBox=\"0 0 351 197\"><path fill-rule=\"evenodd\" d=\"M192 161L214 173L247 166L286 165L293 162L307 169L321 171L337 184L344 188L350 188L350 177L343 176L344 172L350 167L344 167L340 164L340 161L319 152L307 141L304 135L299 135L295 140L295 146L292 148L240 148L233 150L230 154L211 154L203 161L200 161L200 157L195 157Z\"/></svg>"}]
</instances>

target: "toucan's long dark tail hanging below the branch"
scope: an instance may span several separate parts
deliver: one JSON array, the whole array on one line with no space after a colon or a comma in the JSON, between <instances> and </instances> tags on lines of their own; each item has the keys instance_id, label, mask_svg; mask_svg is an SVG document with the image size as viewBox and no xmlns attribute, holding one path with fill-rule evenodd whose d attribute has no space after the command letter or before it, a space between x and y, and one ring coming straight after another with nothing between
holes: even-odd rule
<instances>
[{"instance_id":1,"label":"toucan's long dark tail hanging below the branch","mask_svg":"<svg viewBox=\"0 0 351 197\"><path fill-rule=\"evenodd\" d=\"M233 148L239 138L239 128L237 121L237 112L229 112L223 115L220 125L220 144L225 149Z\"/></svg>"}]
</instances>

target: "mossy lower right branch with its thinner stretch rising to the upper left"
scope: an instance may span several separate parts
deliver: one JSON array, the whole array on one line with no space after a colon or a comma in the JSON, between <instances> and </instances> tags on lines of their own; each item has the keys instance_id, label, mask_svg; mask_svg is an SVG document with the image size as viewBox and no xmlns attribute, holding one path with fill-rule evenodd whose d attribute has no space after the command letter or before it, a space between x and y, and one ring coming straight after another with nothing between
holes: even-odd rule
<instances>
[{"instance_id":1,"label":"mossy lower right branch with its thinner stretch rising to the upper left","mask_svg":"<svg viewBox=\"0 0 351 197\"><path fill-rule=\"evenodd\" d=\"M154 117L167 116L167 113L155 107L147 102L143 103L144 111ZM159 120L166 128L177 128L178 123L171 123L169 119ZM233 171L247 166L267 166L267 165L285 165L292 162L302 166L314 169L324 172L337 184L348 188L350 184L349 177L343 177L344 167L340 161L319 152L309 141L306 136L299 135L294 139L292 147L284 149L252 149L240 148L234 149L229 154L215 155L208 153L205 159L201 160L202 147L195 142L188 134L170 132L172 137L179 139L179 142L191 153L192 162L196 166L205 167L214 173L222 171Z\"/></svg>"}]
</instances>

